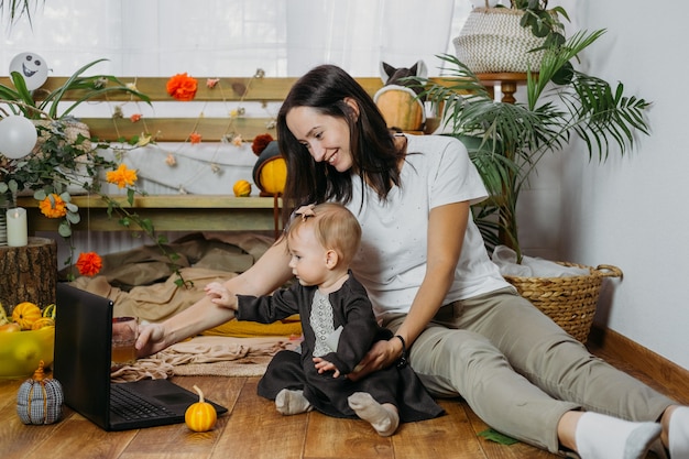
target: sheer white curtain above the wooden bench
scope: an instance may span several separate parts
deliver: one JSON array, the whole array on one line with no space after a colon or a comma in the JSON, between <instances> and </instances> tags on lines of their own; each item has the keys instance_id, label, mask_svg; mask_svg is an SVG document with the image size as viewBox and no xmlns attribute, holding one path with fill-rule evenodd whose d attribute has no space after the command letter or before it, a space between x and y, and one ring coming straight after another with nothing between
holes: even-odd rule
<instances>
[{"instance_id":1,"label":"sheer white curtain above the wooden bench","mask_svg":"<svg viewBox=\"0 0 689 459\"><path fill-rule=\"evenodd\" d=\"M337 64L378 76L452 53L469 0L46 0L13 28L3 21L0 75L17 54L40 54L51 75L106 57L97 72L121 76L299 76Z\"/></svg>"}]
</instances>

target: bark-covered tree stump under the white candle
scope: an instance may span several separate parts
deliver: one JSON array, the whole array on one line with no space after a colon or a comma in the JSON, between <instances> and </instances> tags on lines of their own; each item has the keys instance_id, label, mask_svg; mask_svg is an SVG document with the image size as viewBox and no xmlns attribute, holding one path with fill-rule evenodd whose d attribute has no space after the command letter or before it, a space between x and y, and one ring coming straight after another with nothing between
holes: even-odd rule
<instances>
[{"instance_id":1,"label":"bark-covered tree stump under the white candle","mask_svg":"<svg viewBox=\"0 0 689 459\"><path fill-rule=\"evenodd\" d=\"M55 303L57 244L53 239L29 238L24 247L0 247L0 303L8 317L19 303L41 309Z\"/></svg>"}]
</instances>

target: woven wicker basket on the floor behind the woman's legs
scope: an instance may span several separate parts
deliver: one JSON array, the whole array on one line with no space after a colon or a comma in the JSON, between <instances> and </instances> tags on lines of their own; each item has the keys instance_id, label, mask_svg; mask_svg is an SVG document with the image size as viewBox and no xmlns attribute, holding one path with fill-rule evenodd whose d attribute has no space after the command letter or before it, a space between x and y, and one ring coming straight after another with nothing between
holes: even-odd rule
<instances>
[{"instance_id":1,"label":"woven wicker basket on the floor behind the woman's legs","mask_svg":"<svg viewBox=\"0 0 689 459\"><path fill-rule=\"evenodd\" d=\"M598 267L564 262L559 264L588 269L591 274L567 277L504 277L565 331L586 342L593 324L603 277L622 277L622 271L610 264Z\"/></svg>"}]
</instances>

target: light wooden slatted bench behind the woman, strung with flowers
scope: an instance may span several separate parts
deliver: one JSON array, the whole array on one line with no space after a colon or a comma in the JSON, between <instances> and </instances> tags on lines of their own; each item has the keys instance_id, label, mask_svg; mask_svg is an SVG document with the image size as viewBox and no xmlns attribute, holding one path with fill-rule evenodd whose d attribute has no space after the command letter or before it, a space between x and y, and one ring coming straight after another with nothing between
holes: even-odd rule
<instances>
[{"instance_id":1,"label":"light wooden slatted bench behind the woman, strung with flowers","mask_svg":"<svg viewBox=\"0 0 689 459\"><path fill-rule=\"evenodd\" d=\"M124 84L134 84L135 87L151 98L154 106L161 103L176 105L177 109L184 108L184 101L176 101L166 92L165 77L119 77ZM207 86L207 77L196 77L198 90L194 102L208 105L226 105L238 108L242 105L265 107L270 103L277 107L284 100L297 78L269 78L269 77L221 77L215 88ZM435 78L434 78L435 79ZM59 87L66 80L65 77L50 77L42 87L52 90ZM378 77L357 78L368 94L373 96L382 86ZM439 79L435 79L439 80ZM7 77L0 77L0 83L11 85ZM491 87L495 81L486 81ZM67 100L78 97L67 95ZM112 105L136 103L129 95L109 96L103 100ZM139 102L146 106L144 102ZM94 108L89 102L86 108ZM92 110L91 110L92 111ZM179 110L177 110L179 111ZM196 111L196 112L195 112ZM196 116L198 110L188 110L183 117L144 117L140 122L132 122L129 117L113 118L108 111L99 116L77 116L90 129L91 136L106 141L118 139L131 139L145 131L153 135L157 142L187 142L189 133L195 131L203 138L203 142L222 142L227 140L228 127L231 123L233 132L237 132L245 142L252 142L259 134L271 133L276 138L274 119L267 116L239 116L230 117L225 112L222 116ZM418 132L420 133L420 132ZM124 197L122 197L124 201ZM107 215L107 206L96 196L75 196L74 203L84 212L81 221L76 230L92 231L120 231L124 230L116 219ZM44 218L39 211L39 203L31 197L20 197L18 204L28 209L29 230L54 231L58 221ZM149 195L138 197L134 203L136 212L142 217L149 217L154 221L156 230L276 230L277 208L280 200L272 197L237 198L227 195Z\"/></svg>"}]
</instances>

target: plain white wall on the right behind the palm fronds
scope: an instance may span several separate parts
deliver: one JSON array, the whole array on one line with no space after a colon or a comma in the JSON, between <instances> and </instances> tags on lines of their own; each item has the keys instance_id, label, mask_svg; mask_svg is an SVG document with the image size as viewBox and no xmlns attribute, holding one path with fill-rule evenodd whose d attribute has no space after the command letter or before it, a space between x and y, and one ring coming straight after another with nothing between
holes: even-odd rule
<instances>
[{"instance_id":1,"label":"plain white wall on the right behind the palm fronds","mask_svg":"<svg viewBox=\"0 0 689 459\"><path fill-rule=\"evenodd\" d=\"M689 304L682 296L682 285L689 284L683 2L571 3L558 2L578 28L608 29L587 51L587 70L622 80L630 94L653 101L653 132L639 138L631 154L613 154L604 165L589 163L582 146L564 152L559 174L557 163L548 167L556 178L542 174L545 178L534 185L536 200L524 203L546 225L545 239L543 226L525 221L523 230L537 254L619 266L624 277L605 283L597 321L689 369Z\"/></svg>"}]
</instances>

